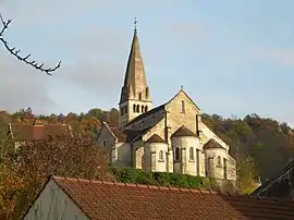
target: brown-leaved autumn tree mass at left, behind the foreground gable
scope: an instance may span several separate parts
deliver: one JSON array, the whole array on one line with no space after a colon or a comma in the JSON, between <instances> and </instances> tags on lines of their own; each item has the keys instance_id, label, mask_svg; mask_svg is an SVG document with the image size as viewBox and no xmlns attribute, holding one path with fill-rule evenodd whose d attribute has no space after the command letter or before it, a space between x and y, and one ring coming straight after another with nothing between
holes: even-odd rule
<instances>
[{"instance_id":1,"label":"brown-leaved autumn tree mass at left, behind the foreground gable","mask_svg":"<svg viewBox=\"0 0 294 220\"><path fill-rule=\"evenodd\" d=\"M14 178L22 183L17 191L7 198L9 204L15 204L13 217L20 218L32 205L50 174L114 180L108 169L108 151L85 136L27 142L15 151L13 160L7 164L14 170Z\"/></svg>"}]
</instances>

